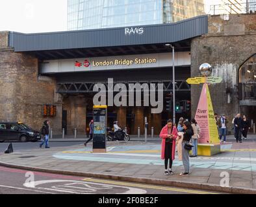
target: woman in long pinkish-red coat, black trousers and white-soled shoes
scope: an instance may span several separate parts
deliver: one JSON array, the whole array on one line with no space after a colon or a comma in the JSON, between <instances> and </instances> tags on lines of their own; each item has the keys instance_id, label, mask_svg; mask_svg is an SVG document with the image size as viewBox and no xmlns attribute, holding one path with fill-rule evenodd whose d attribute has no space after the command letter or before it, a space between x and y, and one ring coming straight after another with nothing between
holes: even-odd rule
<instances>
[{"instance_id":1,"label":"woman in long pinkish-red coat, black trousers and white-soled shoes","mask_svg":"<svg viewBox=\"0 0 256 207\"><path fill-rule=\"evenodd\" d=\"M172 161L175 157L175 140L178 136L176 127L173 125L171 119L167 121L167 124L162 128L160 132L160 138L162 138L162 151L161 158L164 159L165 171L164 175L173 175ZM170 160L170 168L168 167L168 160Z\"/></svg>"}]
</instances>

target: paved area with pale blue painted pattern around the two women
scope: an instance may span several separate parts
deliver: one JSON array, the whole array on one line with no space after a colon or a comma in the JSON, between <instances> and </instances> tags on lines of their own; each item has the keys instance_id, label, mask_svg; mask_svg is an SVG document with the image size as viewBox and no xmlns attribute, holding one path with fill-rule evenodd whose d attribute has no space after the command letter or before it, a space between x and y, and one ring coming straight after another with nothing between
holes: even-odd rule
<instances>
[{"instance_id":1,"label":"paved area with pale blue painted pattern around the two women","mask_svg":"<svg viewBox=\"0 0 256 207\"><path fill-rule=\"evenodd\" d=\"M230 137L228 140L232 141ZM233 140L235 141L235 140ZM160 143L108 142L107 153L92 153L92 143L50 149L14 149L0 154L0 165L64 175L162 184L165 186L226 193L256 193L256 142L249 136L242 144L227 142L222 153L190 158L190 175L179 176L182 162L173 162L174 175L164 175Z\"/></svg>"}]
</instances>

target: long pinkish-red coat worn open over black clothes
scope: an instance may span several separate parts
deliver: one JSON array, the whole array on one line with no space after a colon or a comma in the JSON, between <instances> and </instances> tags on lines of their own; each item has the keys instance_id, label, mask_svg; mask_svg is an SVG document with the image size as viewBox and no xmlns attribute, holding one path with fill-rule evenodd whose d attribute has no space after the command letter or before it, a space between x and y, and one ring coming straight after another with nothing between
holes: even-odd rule
<instances>
[{"instance_id":1,"label":"long pinkish-red coat worn open over black clothes","mask_svg":"<svg viewBox=\"0 0 256 207\"><path fill-rule=\"evenodd\" d=\"M165 150L165 139L167 138L167 135L168 135L168 127L167 125L165 125L161 132L160 132L160 138L162 138L162 151L161 151L161 158L164 159L164 150ZM172 129L172 160L174 160L175 158L175 140L178 136L178 131L176 129L175 126L173 126L173 129Z\"/></svg>"}]
</instances>

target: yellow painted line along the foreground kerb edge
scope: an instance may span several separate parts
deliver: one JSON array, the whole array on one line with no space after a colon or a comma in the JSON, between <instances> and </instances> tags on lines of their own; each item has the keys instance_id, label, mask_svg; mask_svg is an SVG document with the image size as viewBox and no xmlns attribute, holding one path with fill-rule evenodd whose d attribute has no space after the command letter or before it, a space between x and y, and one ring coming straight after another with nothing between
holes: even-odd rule
<instances>
[{"instance_id":1,"label":"yellow painted line along the foreground kerb edge","mask_svg":"<svg viewBox=\"0 0 256 207\"><path fill-rule=\"evenodd\" d=\"M156 189L156 190L178 191L178 192L196 193L196 194L219 194L219 193L212 193L212 192L207 192L207 191L183 190L183 189L179 189L179 188L168 188L168 187L163 187L163 186L162 187L161 186L152 186L152 185L136 184L136 183L129 183L129 182L116 182L116 181L111 181L111 180L97 180L97 179L83 179L83 180L105 183L105 184L116 184L116 185L139 187L139 188L151 188L151 189Z\"/></svg>"}]
</instances>

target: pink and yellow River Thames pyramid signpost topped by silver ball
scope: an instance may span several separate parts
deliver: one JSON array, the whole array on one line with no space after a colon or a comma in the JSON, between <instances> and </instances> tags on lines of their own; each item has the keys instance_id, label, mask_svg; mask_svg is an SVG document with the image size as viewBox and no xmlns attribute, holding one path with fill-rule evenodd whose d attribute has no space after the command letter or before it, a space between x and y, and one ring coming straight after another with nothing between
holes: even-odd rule
<instances>
[{"instance_id":1,"label":"pink and yellow River Thames pyramid signpost topped by silver ball","mask_svg":"<svg viewBox=\"0 0 256 207\"><path fill-rule=\"evenodd\" d=\"M196 122L198 122L201 129L198 139L198 155L211 156L220 153L220 140L208 85L210 83L220 83L222 78L207 77L212 71L212 67L208 63L202 64L199 70L203 77L188 78L186 82L188 84L203 83L195 116Z\"/></svg>"}]
</instances>

